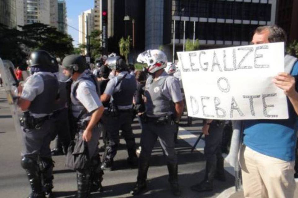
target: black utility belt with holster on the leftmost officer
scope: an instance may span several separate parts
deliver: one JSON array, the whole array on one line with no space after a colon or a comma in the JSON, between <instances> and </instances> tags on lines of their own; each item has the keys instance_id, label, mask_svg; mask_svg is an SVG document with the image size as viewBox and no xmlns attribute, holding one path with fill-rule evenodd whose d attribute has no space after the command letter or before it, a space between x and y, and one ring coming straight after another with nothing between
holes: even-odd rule
<instances>
[{"instance_id":1,"label":"black utility belt with holster on the leftmost officer","mask_svg":"<svg viewBox=\"0 0 298 198\"><path fill-rule=\"evenodd\" d=\"M26 129L37 129L39 130L43 123L50 119L50 116L44 116L42 118L34 118L29 114L29 112L25 112L24 115L20 118L20 125Z\"/></svg>"}]
</instances>

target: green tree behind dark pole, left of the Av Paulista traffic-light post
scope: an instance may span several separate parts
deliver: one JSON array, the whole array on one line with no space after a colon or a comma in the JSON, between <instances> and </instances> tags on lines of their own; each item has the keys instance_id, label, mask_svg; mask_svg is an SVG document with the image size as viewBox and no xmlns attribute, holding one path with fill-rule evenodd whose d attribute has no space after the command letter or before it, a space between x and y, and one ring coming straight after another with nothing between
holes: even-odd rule
<instances>
[{"instance_id":1,"label":"green tree behind dark pole, left of the Av Paulista traffic-light post","mask_svg":"<svg viewBox=\"0 0 298 198\"><path fill-rule=\"evenodd\" d=\"M101 32L98 30L94 30L91 32L89 38L90 38L90 56L93 59L100 58L102 54L102 46L101 46ZM81 48L82 51L88 48L87 44L81 44L79 45L79 48Z\"/></svg>"}]
</instances>

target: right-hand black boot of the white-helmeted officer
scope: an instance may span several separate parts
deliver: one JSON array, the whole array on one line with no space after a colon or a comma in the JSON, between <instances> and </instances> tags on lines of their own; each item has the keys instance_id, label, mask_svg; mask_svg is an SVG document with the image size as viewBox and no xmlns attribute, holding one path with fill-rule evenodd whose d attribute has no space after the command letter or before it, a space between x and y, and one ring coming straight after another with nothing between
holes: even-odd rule
<instances>
[{"instance_id":1,"label":"right-hand black boot of the white-helmeted officer","mask_svg":"<svg viewBox=\"0 0 298 198\"><path fill-rule=\"evenodd\" d=\"M177 163L168 163L169 170L169 183L171 185L171 190L174 196L180 196L181 191L178 184L178 164Z\"/></svg>"}]
</instances>

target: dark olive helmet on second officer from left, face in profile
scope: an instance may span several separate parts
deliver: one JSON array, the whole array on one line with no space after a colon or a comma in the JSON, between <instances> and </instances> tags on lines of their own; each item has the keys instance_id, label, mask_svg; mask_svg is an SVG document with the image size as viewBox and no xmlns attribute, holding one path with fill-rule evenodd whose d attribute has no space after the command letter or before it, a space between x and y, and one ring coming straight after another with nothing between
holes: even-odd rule
<instances>
[{"instance_id":1,"label":"dark olive helmet on second officer from left, face in profile","mask_svg":"<svg viewBox=\"0 0 298 198\"><path fill-rule=\"evenodd\" d=\"M66 56L62 61L62 67L65 69L73 69L74 72L83 73L87 68L86 59L78 54Z\"/></svg>"}]
</instances>

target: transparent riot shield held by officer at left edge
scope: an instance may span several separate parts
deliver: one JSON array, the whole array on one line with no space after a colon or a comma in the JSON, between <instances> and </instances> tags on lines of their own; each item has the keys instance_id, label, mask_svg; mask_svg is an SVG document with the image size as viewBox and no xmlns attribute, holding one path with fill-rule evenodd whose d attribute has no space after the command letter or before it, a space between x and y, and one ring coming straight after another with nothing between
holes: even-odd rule
<instances>
[{"instance_id":1,"label":"transparent riot shield held by officer at left edge","mask_svg":"<svg viewBox=\"0 0 298 198\"><path fill-rule=\"evenodd\" d=\"M17 106L17 87L19 86L19 82L16 79L14 74L14 66L11 61L3 60L0 58L0 73L3 81L3 87L6 93L7 102L9 104L9 108L11 110L11 115L13 118L13 123L15 125L15 129L18 137L21 134L20 127L20 114L21 112L18 110Z\"/></svg>"}]
</instances>

